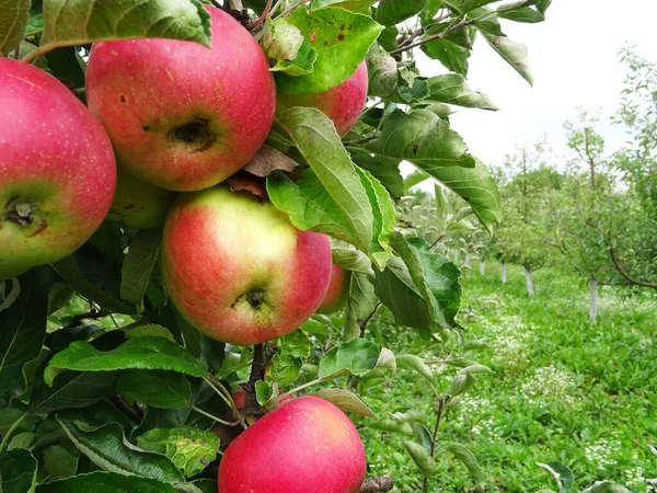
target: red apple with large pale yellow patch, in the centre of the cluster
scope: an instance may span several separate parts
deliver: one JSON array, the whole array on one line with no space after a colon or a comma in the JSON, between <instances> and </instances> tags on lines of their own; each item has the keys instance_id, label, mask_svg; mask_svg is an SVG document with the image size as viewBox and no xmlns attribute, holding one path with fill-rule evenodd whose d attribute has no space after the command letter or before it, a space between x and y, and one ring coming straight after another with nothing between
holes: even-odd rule
<instances>
[{"instance_id":1,"label":"red apple with large pale yellow patch, in the centre of the cluster","mask_svg":"<svg viewBox=\"0 0 657 493\"><path fill-rule=\"evenodd\" d=\"M162 276L189 323L247 345L285 335L328 289L328 237L299 231L270 202L226 184L182 194L164 225Z\"/></svg>"}]
</instances>

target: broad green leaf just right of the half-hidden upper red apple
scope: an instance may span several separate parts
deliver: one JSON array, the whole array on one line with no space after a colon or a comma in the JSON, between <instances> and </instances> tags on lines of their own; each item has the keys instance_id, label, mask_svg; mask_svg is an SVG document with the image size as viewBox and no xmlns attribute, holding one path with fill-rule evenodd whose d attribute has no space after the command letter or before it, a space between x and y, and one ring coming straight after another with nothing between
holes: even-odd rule
<instances>
[{"instance_id":1,"label":"broad green leaf just right of the half-hidden upper red apple","mask_svg":"<svg viewBox=\"0 0 657 493\"><path fill-rule=\"evenodd\" d=\"M427 110L387 116L381 136L367 145L372 152L411 161L427 173L445 167L474 168L463 139L449 124Z\"/></svg>"}]
</instances>

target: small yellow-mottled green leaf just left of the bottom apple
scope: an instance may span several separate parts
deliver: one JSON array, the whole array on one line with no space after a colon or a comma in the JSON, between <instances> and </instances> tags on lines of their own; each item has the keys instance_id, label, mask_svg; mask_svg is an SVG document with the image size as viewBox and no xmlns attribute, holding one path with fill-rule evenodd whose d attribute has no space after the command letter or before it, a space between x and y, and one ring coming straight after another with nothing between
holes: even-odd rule
<instances>
[{"instance_id":1,"label":"small yellow-mottled green leaf just left of the bottom apple","mask_svg":"<svg viewBox=\"0 0 657 493\"><path fill-rule=\"evenodd\" d=\"M137 445L165 455L188 478L201 472L217 458L219 437L191 426L154 428L138 436Z\"/></svg>"}]
</instances>

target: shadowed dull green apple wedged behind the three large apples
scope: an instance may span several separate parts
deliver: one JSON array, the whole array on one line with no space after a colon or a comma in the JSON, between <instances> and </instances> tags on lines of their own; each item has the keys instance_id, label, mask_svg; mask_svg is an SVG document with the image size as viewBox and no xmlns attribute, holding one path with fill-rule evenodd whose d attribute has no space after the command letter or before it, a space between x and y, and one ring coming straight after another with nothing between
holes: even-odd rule
<instances>
[{"instance_id":1,"label":"shadowed dull green apple wedged behind the three large apples","mask_svg":"<svg viewBox=\"0 0 657 493\"><path fill-rule=\"evenodd\" d=\"M151 185L118 168L107 220L128 228L154 228L164 223L175 195L175 192Z\"/></svg>"}]
</instances>

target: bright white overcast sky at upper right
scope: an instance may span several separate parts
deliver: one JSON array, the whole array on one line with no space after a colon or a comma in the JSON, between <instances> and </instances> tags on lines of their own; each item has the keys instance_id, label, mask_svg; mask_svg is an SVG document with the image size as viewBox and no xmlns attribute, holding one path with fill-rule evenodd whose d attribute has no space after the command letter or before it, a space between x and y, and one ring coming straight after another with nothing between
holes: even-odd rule
<instances>
[{"instance_id":1,"label":"bright white overcast sky at upper right","mask_svg":"<svg viewBox=\"0 0 657 493\"><path fill-rule=\"evenodd\" d=\"M632 43L639 55L657 61L655 19L657 0L553 0L543 23L503 20L505 34L529 48L534 85L477 39L468 83L491 96L500 111L458 108L450 116L452 128L463 136L471 153L500 165L517 142L534 142L544 135L556 154L565 153L563 123L581 106L602 112L599 130L608 149L618 147L623 130L609 124L624 79L618 54ZM427 77L445 71L428 58L419 61L419 68Z\"/></svg>"}]
</instances>

